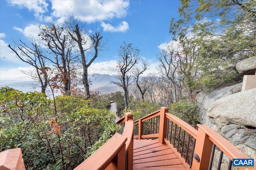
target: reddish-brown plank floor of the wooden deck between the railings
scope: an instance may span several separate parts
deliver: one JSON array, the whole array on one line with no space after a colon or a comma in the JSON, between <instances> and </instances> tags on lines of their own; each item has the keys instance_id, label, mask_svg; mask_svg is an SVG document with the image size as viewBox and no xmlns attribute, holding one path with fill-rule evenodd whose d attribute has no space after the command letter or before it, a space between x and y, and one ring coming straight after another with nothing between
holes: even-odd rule
<instances>
[{"instance_id":1,"label":"reddish-brown plank floor of the wooden deck between the railings","mask_svg":"<svg viewBox=\"0 0 256 170\"><path fill-rule=\"evenodd\" d=\"M156 140L134 140L133 169L160 170L175 168L177 170L189 170L182 164L176 153L166 144L160 144Z\"/></svg>"}]
</instances>

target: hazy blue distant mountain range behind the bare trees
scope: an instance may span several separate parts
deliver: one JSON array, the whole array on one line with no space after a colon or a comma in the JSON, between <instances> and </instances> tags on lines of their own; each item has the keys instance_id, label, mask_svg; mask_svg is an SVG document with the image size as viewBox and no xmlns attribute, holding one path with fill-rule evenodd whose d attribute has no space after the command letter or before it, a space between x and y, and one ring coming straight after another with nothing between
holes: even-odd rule
<instances>
[{"instance_id":1,"label":"hazy blue distant mountain range behind the bare trees","mask_svg":"<svg viewBox=\"0 0 256 170\"><path fill-rule=\"evenodd\" d=\"M93 91L99 91L100 93L103 93L103 94L122 91L122 88L111 83L111 81L116 81L115 75L111 76L108 74L95 73L90 75L89 78L92 81L92 85L90 85L90 89ZM40 87L33 88L32 84L35 84L35 83L36 82L34 81L15 82L14 80L4 80L0 82L0 87L8 86L17 90L21 90L23 92L33 92L33 91L40 92L41 91Z\"/></svg>"}]
</instances>

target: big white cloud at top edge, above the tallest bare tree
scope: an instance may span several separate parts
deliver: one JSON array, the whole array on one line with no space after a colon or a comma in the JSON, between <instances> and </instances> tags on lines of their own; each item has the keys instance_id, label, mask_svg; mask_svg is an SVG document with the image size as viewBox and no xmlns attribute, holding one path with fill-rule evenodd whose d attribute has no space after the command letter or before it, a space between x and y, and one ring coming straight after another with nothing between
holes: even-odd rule
<instances>
[{"instance_id":1,"label":"big white cloud at top edge, above the tallest bare tree","mask_svg":"<svg viewBox=\"0 0 256 170\"><path fill-rule=\"evenodd\" d=\"M52 16L62 21L65 16L79 16L86 22L110 20L126 16L129 2L124 0L52 0Z\"/></svg>"}]
</instances>

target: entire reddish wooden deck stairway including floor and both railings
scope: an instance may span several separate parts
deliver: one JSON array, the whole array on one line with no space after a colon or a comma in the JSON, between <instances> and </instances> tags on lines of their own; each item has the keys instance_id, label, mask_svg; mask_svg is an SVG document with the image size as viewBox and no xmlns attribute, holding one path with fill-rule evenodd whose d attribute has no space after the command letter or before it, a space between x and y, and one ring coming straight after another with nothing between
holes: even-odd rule
<instances>
[{"instance_id":1,"label":"entire reddish wooden deck stairway including floor and both railings","mask_svg":"<svg viewBox=\"0 0 256 170\"><path fill-rule=\"evenodd\" d=\"M231 170L232 159L249 158L210 127L198 124L196 130L168 113L167 107L137 121L133 121L132 113L128 112L117 123L120 132L75 170L206 170L217 166L217 169L227 169L225 162L222 163L222 154L229 158L226 165ZM214 154L215 147L221 150L220 156ZM15 167L10 170L25 169L21 149L1 152L0 160L0 169L10 165ZM218 163L212 164L213 161ZM222 164L224 168L220 167ZM255 165L256 162L250 170L256 170Z\"/></svg>"}]
</instances>

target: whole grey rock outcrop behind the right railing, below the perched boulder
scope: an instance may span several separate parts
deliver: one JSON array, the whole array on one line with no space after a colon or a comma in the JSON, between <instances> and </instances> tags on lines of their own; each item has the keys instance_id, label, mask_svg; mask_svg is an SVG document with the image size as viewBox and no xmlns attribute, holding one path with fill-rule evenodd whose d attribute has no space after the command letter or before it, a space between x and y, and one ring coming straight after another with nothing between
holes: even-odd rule
<instances>
[{"instance_id":1,"label":"whole grey rock outcrop behind the right railing, below the perched boulder","mask_svg":"<svg viewBox=\"0 0 256 170\"><path fill-rule=\"evenodd\" d=\"M242 84L197 95L201 123L206 124L251 158L256 158L256 88Z\"/></svg>"}]
</instances>

